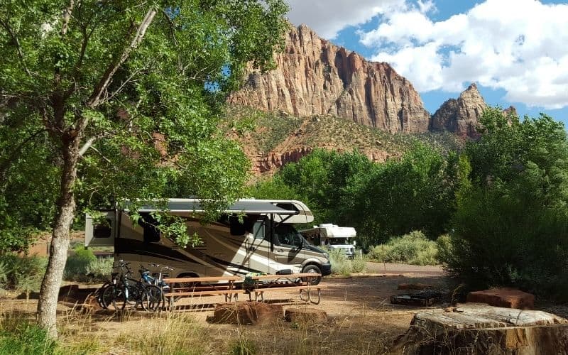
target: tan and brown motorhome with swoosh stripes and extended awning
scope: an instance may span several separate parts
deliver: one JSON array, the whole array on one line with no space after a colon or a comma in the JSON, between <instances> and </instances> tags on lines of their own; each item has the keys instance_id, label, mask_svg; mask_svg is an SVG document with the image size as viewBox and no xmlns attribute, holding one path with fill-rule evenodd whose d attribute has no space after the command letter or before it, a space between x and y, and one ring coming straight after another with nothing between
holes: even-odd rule
<instances>
[{"instance_id":1,"label":"tan and brown motorhome with swoosh stripes and extended awning","mask_svg":"<svg viewBox=\"0 0 568 355\"><path fill-rule=\"evenodd\" d=\"M182 248L161 236L152 217L160 211L183 217L187 232L197 233L202 244ZM216 222L205 225L199 199L170 199L167 208L140 207L138 223L128 209L102 212L105 224L94 224L87 214L85 246L114 246L115 260L171 266L175 277L331 273L327 253L307 243L293 226L314 219L300 201L238 200Z\"/></svg>"}]
</instances>

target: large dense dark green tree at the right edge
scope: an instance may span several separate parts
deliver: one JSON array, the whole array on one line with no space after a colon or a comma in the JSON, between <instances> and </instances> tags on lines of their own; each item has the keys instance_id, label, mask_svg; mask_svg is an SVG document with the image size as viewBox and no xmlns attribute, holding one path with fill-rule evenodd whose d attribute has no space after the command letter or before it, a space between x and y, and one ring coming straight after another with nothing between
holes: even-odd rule
<instances>
[{"instance_id":1,"label":"large dense dark green tree at the right edge","mask_svg":"<svg viewBox=\"0 0 568 355\"><path fill-rule=\"evenodd\" d=\"M466 146L450 270L475 287L568 294L568 140L562 123L487 109ZM465 170L466 172L466 170Z\"/></svg>"}]
</instances>

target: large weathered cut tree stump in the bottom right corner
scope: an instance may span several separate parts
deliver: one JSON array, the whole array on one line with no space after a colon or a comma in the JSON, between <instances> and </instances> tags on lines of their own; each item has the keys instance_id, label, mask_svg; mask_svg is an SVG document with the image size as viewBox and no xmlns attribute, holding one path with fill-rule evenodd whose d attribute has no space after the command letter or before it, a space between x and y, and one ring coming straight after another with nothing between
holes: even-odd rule
<instances>
[{"instance_id":1,"label":"large weathered cut tree stump in the bottom right corner","mask_svg":"<svg viewBox=\"0 0 568 355\"><path fill-rule=\"evenodd\" d=\"M417 313L392 354L568 354L568 321L478 303Z\"/></svg>"}]
</instances>

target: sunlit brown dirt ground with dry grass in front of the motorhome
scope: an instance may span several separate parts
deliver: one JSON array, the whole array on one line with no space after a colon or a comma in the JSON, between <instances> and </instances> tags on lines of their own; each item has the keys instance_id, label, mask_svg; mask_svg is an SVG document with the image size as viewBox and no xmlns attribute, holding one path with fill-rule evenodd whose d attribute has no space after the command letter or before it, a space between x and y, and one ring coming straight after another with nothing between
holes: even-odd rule
<instances>
[{"instance_id":1,"label":"sunlit brown dirt ground with dry grass in front of the motorhome","mask_svg":"<svg viewBox=\"0 0 568 355\"><path fill-rule=\"evenodd\" d=\"M385 269L387 274L382 275ZM84 354L145 354L144 348L138 346L139 342L133 341L133 336L143 331L158 337L164 329L172 327L171 321L176 317L184 324L191 323L193 331L197 332L192 337L201 338L196 339L200 344L187 345L196 346L195 351L187 354L231 354L235 353L235 346L241 349L244 345L253 346L256 354L383 354L393 340L408 329L413 315L424 309L391 305L391 295L408 292L398 290L399 284L422 283L442 293L452 291L442 269L436 266L369 263L368 270L370 273L348 278L324 278L322 285L326 288L322 290L320 305L302 302L297 291L275 292L266 297L267 302L283 305L284 309L305 307L323 310L327 312L327 324L290 324L283 321L251 326L209 324L207 317L213 314L214 306L224 302L223 297L209 296L182 300L179 305L186 307L160 315L144 312L114 315L104 310L84 315L77 312L72 304L60 302L58 327L62 329L60 332L65 342L84 342L85 337L97 339L97 346L92 346L92 351L82 351ZM92 288L92 285L81 286L89 287ZM246 295L241 295L239 301L246 298ZM4 295L0 298L0 317L18 315L33 319L36 305L37 300L33 297L26 301L14 295ZM432 307L446 306L441 302ZM179 324L177 327L180 327ZM171 334L172 331L167 332ZM239 354L238 351L236 353ZM178 353L173 351L171 354Z\"/></svg>"}]
</instances>

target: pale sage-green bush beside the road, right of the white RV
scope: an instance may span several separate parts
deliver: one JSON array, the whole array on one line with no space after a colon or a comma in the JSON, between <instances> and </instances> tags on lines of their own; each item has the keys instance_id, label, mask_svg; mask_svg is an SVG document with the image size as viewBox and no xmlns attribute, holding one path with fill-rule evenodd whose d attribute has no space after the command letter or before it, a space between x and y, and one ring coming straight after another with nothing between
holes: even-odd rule
<instances>
[{"instance_id":1,"label":"pale sage-green bush beside the road, right of the white RV","mask_svg":"<svg viewBox=\"0 0 568 355\"><path fill-rule=\"evenodd\" d=\"M390 239L386 244L374 246L368 253L373 261L385 263L409 263L412 265L436 265L438 249L421 231Z\"/></svg>"}]
</instances>

